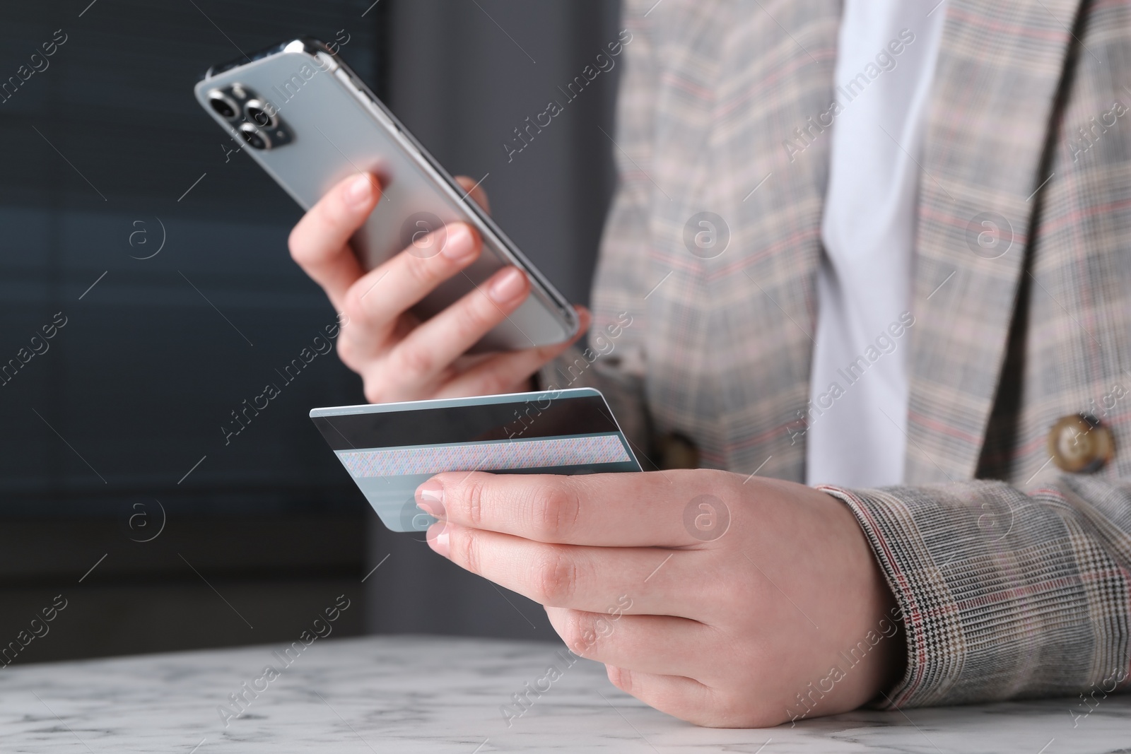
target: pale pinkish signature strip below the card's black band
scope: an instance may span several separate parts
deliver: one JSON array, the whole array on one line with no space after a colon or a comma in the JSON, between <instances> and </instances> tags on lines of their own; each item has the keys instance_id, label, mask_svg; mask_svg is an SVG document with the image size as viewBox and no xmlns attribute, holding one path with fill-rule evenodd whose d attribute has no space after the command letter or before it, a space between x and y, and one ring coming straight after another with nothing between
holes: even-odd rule
<instances>
[{"instance_id":1,"label":"pale pinkish signature strip below the card's black band","mask_svg":"<svg viewBox=\"0 0 1131 754\"><path fill-rule=\"evenodd\" d=\"M429 448L339 451L354 477L491 471L630 461L619 435L510 440Z\"/></svg>"}]
</instances>

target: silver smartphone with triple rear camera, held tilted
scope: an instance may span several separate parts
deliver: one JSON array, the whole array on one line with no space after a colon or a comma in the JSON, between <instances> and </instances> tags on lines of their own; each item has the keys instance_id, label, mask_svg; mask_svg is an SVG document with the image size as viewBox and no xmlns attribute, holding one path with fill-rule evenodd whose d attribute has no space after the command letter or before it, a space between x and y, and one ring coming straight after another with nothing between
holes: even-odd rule
<instances>
[{"instance_id":1,"label":"silver smartphone with triple rear camera, held tilted","mask_svg":"<svg viewBox=\"0 0 1131 754\"><path fill-rule=\"evenodd\" d=\"M421 319L504 266L525 270L530 295L472 350L533 348L577 332L569 302L327 45L292 40L213 67L196 96L303 209L352 174L379 177L381 200L352 240L366 269L406 249L421 257L440 253L448 223L474 227L483 239L480 258L413 309Z\"/></svg>"}]
</instances>

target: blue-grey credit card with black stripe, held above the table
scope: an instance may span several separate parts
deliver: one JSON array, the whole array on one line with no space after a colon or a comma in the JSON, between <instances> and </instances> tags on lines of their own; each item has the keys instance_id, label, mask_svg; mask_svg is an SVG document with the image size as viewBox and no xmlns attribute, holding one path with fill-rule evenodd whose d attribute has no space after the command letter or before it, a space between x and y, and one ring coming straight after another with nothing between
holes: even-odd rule
<instances>
[{"instance_id":1,"label":"blue-grey credit card with black stripe, held above the table","mask_svg":"<svg viewBox=\"0 0 1131 754\"><path fill-rule=\"evenodd\" d=\"M414 493L441 471L641 470L605 397L592 388L316 408L310 418L392 531L435 522Z\"/></svg>"}]
</instances>

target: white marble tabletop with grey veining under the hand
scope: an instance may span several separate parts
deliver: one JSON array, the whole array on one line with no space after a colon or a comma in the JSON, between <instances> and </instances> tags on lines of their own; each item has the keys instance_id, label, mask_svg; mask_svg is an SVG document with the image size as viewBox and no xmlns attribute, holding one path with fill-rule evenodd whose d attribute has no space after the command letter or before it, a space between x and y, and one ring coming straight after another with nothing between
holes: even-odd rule
<instances>
[{"instance_id":1,"label":"white marble tabletop with grey veining under the hand","mask_svg":"<svg viewBox=\"0 0 1131 754\"><path fill-rule=\"evenodd\" d=\"M1076 720L1069 713L1073 700L1065 699L711 730L616 691L604 668L587 660L569 667L508 727L500 707L543 677L549 664L564 666L556 649L463 639L327 639L285 668L275 645L9 667L0 671L0 752L1131 751L1128 696L1111 696ZM284 669L256 684L267 665ZM266 691L258 699L247 694L247 709L225 728L217 707L244 682Z\"/></svg>"}]
</instances>

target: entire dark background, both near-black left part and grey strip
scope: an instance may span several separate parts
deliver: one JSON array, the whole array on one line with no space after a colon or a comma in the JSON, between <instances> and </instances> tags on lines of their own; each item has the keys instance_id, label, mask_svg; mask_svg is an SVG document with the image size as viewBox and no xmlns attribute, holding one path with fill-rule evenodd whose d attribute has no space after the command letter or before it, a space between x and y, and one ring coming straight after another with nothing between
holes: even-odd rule
<instances>
[{"instance_id":1,"label":"entire dark background, both near-black left part and grey strip","mask_svg":"<svg viewBox=\"0 0 1131 754\"><path fill-rule=\"evenodd\" d=\"M340 593L359 609L336 635L553 635L537 605L380 526L307 417L364 400L335 355L225 443L335 313L287 254L299 208L192 86L288 37L338 41L441 163L486 176L500 225L584 303L619 68L512 161L502 145L616 38L618 5L3 3L0 647L68 600L16 662L290 642Z\"/></svg>"}]
</instances>

